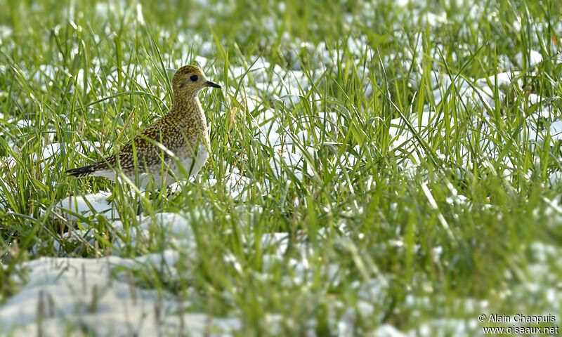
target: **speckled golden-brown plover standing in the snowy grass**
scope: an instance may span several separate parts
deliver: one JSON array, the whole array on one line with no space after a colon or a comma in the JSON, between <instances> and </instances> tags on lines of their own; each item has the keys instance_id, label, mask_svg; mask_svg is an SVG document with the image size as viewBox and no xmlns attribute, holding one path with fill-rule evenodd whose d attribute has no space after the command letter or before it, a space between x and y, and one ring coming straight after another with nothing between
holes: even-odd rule
<instances>
[{"instance_id":1,"label":"speckled golden-brown plover standing in the snowy grass","mask_svg":"<svg viewBox=\"0 0 562 337\"><path fill-rule=\"evenodd\" d=\"M206 87L222 89L209 81L200 67L180 67L172 79L174 103L168 113L117 153L65 173L76 178L105 177L115 182L120 170L141 187L150 181L169 186L178 179L194 176L207 162L211 146L207 119L197 97Z\"/></svg>"}]
</instances>

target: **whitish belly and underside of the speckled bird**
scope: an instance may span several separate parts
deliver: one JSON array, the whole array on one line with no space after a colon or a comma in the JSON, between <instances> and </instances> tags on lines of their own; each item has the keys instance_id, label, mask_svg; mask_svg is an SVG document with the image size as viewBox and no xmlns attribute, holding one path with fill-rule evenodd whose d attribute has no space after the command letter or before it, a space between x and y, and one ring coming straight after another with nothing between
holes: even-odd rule
<instances>
[{"instance_id":1,"label":"whitish belly and underside of the speckled bird","mask_svg":"<svg viewBox=\"0 0 562 337\"><path fill-rule=\"evenodd\" d=\"M181 164L181 166L176 164L176 161L174 160L171 160L169 163L167 163L169 169L171 170L171 172L173 172L173 174L170 173L164 174L164 179L162 179L162 172L165 171L164 170L165 167L162 167L162 170L160 170L158 173L146 173L143 172L142 169L139 169L138 181L135 181L134 177L133 178L129 177L129 178L131 178L131 181L135 183L136 186L141 188L147 187L151 181L154 181L155 185L157 186L162 186L162 185L169 186L173 183L176 183L177 180L188 178L185 176L186 174L190 177L190 176L195 176L195 174L199 173L203 165L207 162L207 159L209 159L209 151L207 150L207 147L204 144L200 144L197 147L197 154L195 155L195 163L193 163L191 152L177 153L176 156L178 158L184 158L179 163ZM115 182L117 180L118 173L111 169L107 169L107 170L100 170L100 171L93 172L91 173L91 176L104 177Z\"/></svg>"}]
</instances>

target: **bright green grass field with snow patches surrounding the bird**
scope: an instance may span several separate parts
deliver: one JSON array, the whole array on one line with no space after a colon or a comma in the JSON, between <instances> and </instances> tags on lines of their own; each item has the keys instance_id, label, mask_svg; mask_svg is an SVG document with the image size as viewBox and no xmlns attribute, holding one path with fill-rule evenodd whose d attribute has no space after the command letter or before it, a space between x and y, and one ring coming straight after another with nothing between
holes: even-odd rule
<instances>
[{"instance_id":1,"label":"bright green grass field with snow patches surrounding the bird","mask_svg":"<svg viewBox=\"0 0 562 337\"><path fill-rule=\"evenodd\" d=\"M561 319L560 307L544 296L548 289L560 293L559 283L525 288L532 264L562 277L556 259L540 260L532 249L542 242L561 252L562 220L550 202L559 200L562 185L549 182L562 169L560 143L533 146L526 134L527 126L548 130L561 116L562 62L551 42L561 41L558 1L488 1L476 17L469 15L473 5L462 1L405 7L394 1L211 1L209 8L157 1L98 6L97 13L95 4L78 2L0 2L9 9L0 13L0 23L11 29L0 35L0 301L18 291L16 266L25 260L96 256L91 242L60 236L76 223L53 216L53 205L69 195L111 190L130 231L139 214L209 211L211 220L192 217L195 258L177 266L188 276L134 273L146 288L183 296L192 289L189 311L239 317L240 336L272 333L266 317L277 314L281 335L304 334L315 322L313 329L324 336L335 333L350 308L355 334L381 324L408 331L433 319L476 319L481 309L466 309L468 300L487 301L488 312L551 312ZM414 15L428 12L446 20L429 25L424 15ZM365 39L370 50L354 50L351 39ZM211 53L202 42L211 44ZM318 63L323 55L314 46L320 44L336 62ZM532 50L543 60L530 66ZM523 67L514 70L521 71L522 85L494 86L498 69L518 52ZM161 117L171 106L164 67L192 63L202 53L207 76L224 89L200 96L213 155L198 183L131 197L126 184L62 173L112 153L113 144ZM270 64L268 88L258 91L251 107L244 92L256 89L258 75L233 77L232 70L253 69L259 57ZM291 74L296 61L308 86L287 107L275 100L283 95L275 65ZM490 77L495 107L463 103L456 86L440 87L443 99L436 102L432 73L452 80ZM528 104L530 93L547 102ZM547 104L552 118L535 117ZM426 107L435 121L419 128L412 120ZM290 140L287 148L303 152L300 168L282 164L275 172L270 165L277 149L259 140L267 111L282 126L282 139ZM323 112L336 120L322 118ZM29 126L15 124L24 119ZM394 127L410 131L411 140L394 148ZM301 131L305 139L296 138ZM74 146L94 141L107 147ZM51 143L64 144L63 150L38 160ZM485 144L497 151L487 152ZM405 169L411 160L412 169ZM251 181L244 201L225 185L233 169ZM216 185L204 183L213 177ZM466 201L451 201L457 194ZM156 220L147 242L116 233L103 216L78 223L88 225L102 252L193 253L171 247ZM275 249L260 240L274 232L289 234L289 249L268 264L264 256ZM118 236L124 249L113 246ZM63 249L55 250L55 241ZM304 256L303 246L309 249ZM299 274L290 261L303 258L305 280L284 282ZM327 272L331 265L336 275ZM370 282L379 290L365 295L360 289ZM370 303L372 312L361 310L362 303Z\"/></svg>"}]
</instances>

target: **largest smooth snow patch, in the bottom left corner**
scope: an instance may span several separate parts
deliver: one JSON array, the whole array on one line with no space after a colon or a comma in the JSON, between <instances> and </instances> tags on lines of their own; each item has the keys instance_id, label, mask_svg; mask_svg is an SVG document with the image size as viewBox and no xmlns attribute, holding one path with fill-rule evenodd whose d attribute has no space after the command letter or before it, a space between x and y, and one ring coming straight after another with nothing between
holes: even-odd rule
<instances>
[{"instance_id":1,"label":"largest smooth snow patch, in the bottom left corner","mask_svg":"<svg viewBox=\"0 0 562 337\"><path fill-rule=\"evenodd\" d=\"M187 303L170 293L138 288L115 267L154 267L169 272L175 251L136 259L110 256L39 258L22 264L29 282L0 307L0 333L11 336L64 336L87 331L100 336L207 336L209 330L231 333L241 328L235 318L186 312Z\"/></svg>"}]
</instances>

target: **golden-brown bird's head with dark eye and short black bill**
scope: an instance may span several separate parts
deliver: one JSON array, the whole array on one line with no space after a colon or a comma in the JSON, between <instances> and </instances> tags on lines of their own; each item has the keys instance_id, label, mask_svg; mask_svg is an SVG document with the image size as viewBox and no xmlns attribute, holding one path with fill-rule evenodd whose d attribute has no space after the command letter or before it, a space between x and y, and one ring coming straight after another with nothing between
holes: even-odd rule
<instances>
[{"instance_id":1,"label":"golden-brown bird's head with dark eye and short black bill","mask_svg":"<svg viewBox=\"0 0 562 337\"><path fill-rule=\"evenodd\" d=\"M199 93L199 91L206 87L223 88L218 84L211 82L205 77L203 70L195 65L184 65L176 71L174 79L172 79L172 86L174 87L174 96L192 98Z\"/></svg>"}]
</instances>

